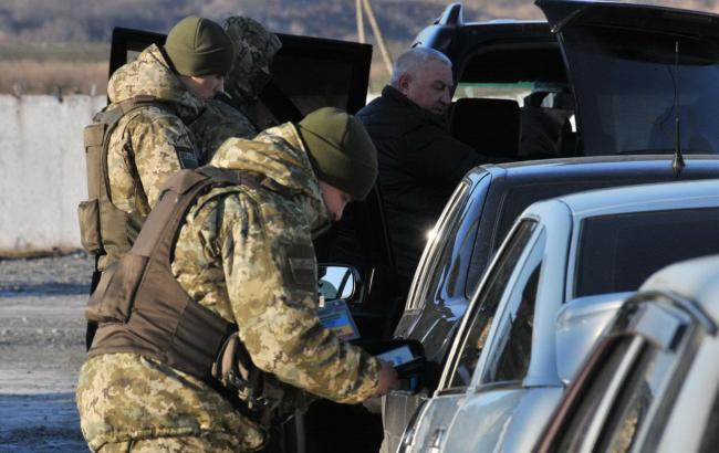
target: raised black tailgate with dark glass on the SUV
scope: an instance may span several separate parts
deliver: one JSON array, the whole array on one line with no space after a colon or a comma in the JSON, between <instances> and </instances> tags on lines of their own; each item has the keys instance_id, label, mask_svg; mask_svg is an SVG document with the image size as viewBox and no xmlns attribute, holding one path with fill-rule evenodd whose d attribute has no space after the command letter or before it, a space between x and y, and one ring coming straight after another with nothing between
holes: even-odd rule
<instances>
[{"instance_id":1,"label":"raised black tailgate with dark glass on the SUV","mask_svg":"<svg viewBox=\"0 0 719 453\"><path fill-rule=\"evenodd\" d=\"M718 15L627 3L536 6L562 48L584 155L673 152L677 141L685 152L719 152L710 120L719 103Z\"/></svg>"}]
</instances>

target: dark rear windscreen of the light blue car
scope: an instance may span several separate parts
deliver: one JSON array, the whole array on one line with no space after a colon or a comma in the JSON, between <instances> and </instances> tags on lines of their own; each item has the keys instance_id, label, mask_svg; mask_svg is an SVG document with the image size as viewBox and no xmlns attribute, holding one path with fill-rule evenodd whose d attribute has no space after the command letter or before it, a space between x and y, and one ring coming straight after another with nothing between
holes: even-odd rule
<instances>
[{"instance_id":1,"label":"dark rear windscreen of the light blue car","mask_svg":"<svg viewBox=\"0 0 719 453\"><path fill-rule=\"evenodd\" d=\"M654 272L719 253L717 209L633 212L582 222L574 297L635 291Z\"/></svg>"}]
</instances>

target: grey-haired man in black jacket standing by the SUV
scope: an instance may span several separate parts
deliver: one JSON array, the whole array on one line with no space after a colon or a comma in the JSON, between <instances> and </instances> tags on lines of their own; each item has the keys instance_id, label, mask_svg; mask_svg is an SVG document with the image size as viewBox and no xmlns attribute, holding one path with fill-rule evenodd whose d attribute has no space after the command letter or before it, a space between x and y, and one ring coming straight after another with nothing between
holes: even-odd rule
<instances>
[{"instance_id":1,"label":"grey-haired man in black jacket standing by the SUV","mask_svg":"<svg viewBox=\"0 0 719 453\"><path fill-rule=\"evenodd\" d=\"M357 113L378 151L378 183L399 276L408 283L429 232L455 187L487 162L449 135L451 62L415 48L404 53L382 96Z\"/></svg>"}]
</instances>

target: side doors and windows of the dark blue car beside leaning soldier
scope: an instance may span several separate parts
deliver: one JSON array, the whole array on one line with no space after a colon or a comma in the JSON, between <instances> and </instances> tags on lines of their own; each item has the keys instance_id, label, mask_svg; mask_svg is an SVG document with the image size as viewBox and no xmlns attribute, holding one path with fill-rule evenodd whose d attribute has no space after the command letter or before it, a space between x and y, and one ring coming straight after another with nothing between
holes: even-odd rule
<instances>
[{"instance_id":1,"label":"side doors and windows of the dark blue car beside leaning soldier","mask_svg":"<svg viewBox=\"0 0 719 453\"><path fill-rule=\"evenodd\" d=\"M428 241L395 337L421 341L430 364L426 390L419 394L394 392L383 399L385 444L396 451L402 433L421 400L436 389L441 365L471 295L467 267L477 235L489 172L475 170L458 186Z\"/></svg>"}]
</instances>

